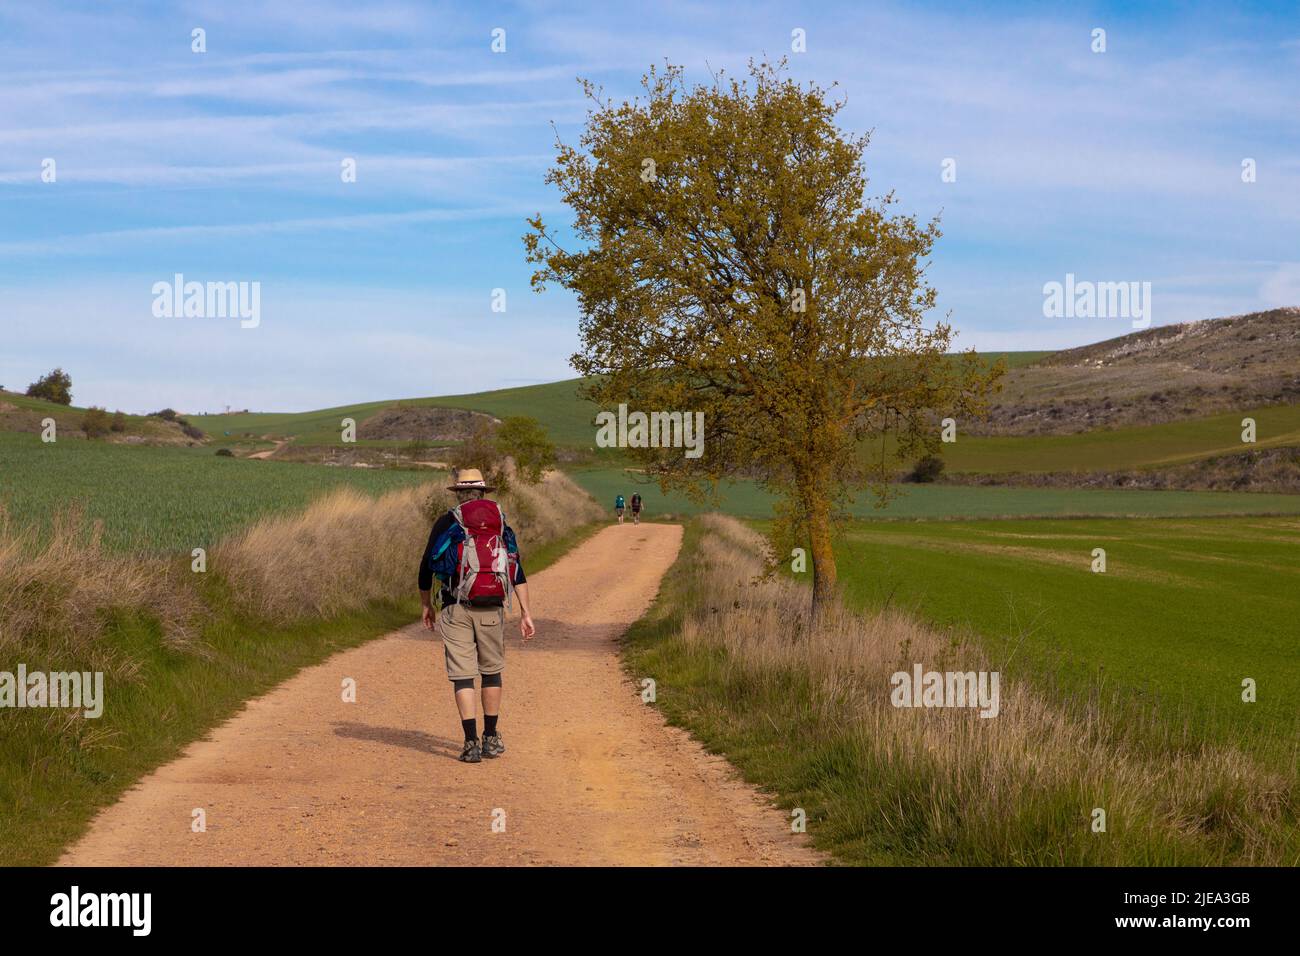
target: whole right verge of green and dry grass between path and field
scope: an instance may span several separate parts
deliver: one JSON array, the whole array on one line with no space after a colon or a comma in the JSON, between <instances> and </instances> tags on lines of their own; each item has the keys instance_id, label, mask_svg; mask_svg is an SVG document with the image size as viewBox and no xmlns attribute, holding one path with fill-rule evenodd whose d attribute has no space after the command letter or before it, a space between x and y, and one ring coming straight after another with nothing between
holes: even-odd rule
<instances>
[{"instance_id":1,"label":"whole right verge of green and dry grass between path and field","mask_svg":"<svg viewBox=\"0 0 1300 956\"><path fill-rule=\"evenodd\" d=\"M1296 779L1240 749L1144 721L1130 701L1006 680L996 717L893 706L914 663L993 670L978 643L898 610L836 607L812 627L794 581L754 583L760 542L688 529L628 636L658 705L785 808L815 844L867 865L1295 865ZM1105 830L1095 826L1105 813Z\"/></svg>"}]
</instances>

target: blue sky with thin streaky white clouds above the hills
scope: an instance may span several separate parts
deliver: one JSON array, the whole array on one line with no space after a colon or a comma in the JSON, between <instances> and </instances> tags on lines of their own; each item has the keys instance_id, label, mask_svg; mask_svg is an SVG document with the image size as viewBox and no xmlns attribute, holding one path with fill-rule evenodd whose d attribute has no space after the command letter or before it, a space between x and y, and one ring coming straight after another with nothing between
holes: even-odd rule
<instances>
[{"instance_id":1,"label":"blue sky with thin streaky white clouds above the hills","mask_svg":"<svg viewBox=\"0 0 1300 956\"><path fill-rule=\"evenodd\" d=\"M664 59L705 81L784 53L874 131L872 193L941 213L963 347L1128 332L1043 316L1070 272L1152 282L1156 325L1300 304L1294 3L5 1L0 384L62 365L78 405L289 411L571 377L575 303L529 291L520 237L566 219L542 177L576 78L621 98ZM261 282L260 325L155 317L174 273Z\"/></svg>"}]
</instances>

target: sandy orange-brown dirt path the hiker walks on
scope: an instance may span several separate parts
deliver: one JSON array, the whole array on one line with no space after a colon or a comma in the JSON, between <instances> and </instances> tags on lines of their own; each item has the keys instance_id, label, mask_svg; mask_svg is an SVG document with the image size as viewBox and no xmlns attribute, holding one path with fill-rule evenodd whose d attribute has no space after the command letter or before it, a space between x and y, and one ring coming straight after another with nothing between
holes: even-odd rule
<instances>
[{"instance_id":1,"label":"sandy orange-brown dirt path the hiker walks on","mask_svg":"<svg viewBox=\"0 0 1300 956\"><path fill-rule=\"evenodd\" d=\"M504 757L456 760L442 645L415 626L252 701L101 813L60 862L819 862L621 672L615 641L680 545L677 525L614 525L529 579L538 636L508 632ZM346 678L355 704L342 701ZM191 831L196 808L205 832Z\"/></svg>"}]
</instances>

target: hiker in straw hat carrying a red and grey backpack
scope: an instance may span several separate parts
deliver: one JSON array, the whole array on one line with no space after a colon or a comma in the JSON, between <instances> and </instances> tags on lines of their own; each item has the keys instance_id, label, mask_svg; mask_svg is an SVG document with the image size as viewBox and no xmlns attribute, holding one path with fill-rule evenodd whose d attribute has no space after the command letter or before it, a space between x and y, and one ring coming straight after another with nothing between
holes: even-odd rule
<instances>
[{"instance_id":1,"label":"hiker in straw hat carrying a red and grey backpack","mask_svg":"<svg viewBox=\"0 0 1300 956\"><path fill-rule=\"evenodd\" d=\"M477 468L462 468L448 485L460 503L434 523L420 555L420 604L424 626L437 620L442 649L465 732L460 760L477 763L506 752L497 717L500 713L500 672L506 667L506 613L511 594L519 596L519 633L537 633L528 609L528 584L519 561L515 532L500 505L484 496L495 490ZM442 584L441 613L434 613L433 579ZM474 678L482 676L484 737L478 743Z\"/></svg>"}]
</instances>

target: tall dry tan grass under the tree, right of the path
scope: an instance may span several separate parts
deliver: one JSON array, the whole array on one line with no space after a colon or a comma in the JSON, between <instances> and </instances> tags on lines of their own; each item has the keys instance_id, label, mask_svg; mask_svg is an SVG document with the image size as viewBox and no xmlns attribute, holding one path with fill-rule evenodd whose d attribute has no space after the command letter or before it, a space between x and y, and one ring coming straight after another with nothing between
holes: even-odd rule
<instances>
[{"instance_id":1,"label":"tall dry tan grass under the tree, right of the path","mask_svg":"<svg viewBox=\"0 0 1300 956\"><path fill-rule=\"evenodd\" d=\"M681 640L698 658L723 650L718 679L755 709L783 696L788 708L796 688L803 743L836 739L846 767L870 778L831 786L857 795L841 813L859 818L840 821L854 839L868 831L931 862L1296 862L1295 774L1173 739L1113 701L1048 698L1005 675L996 718L894 708L889 678L914 663L1000 669L901 613L840 606L810 630L805 587L758 579L762 537L702 522ZM1106 812L1105 834L1091 829L1093 808Z\"/></svg>"}]
</instances>

